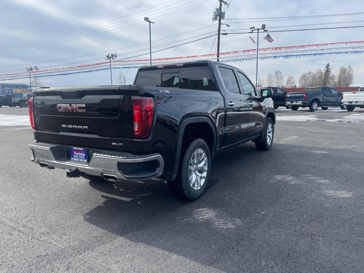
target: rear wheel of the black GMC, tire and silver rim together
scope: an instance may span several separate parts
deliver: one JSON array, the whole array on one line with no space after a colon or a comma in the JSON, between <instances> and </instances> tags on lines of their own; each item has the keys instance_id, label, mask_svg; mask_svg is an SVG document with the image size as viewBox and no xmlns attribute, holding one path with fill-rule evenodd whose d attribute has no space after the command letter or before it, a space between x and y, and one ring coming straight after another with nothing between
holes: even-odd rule
<instances>
[{"instance_id":1,"label":"rear wheel of the black GMC, tire and silver rim together","mask_svg":"<svg viewBox=\"0 0 364 273\"><path fill-rule=\"evenodd\" d=\"M177 177L167 181L170 191L179 198L196 200L207 188L211 170L209 146L197 138L188 146L179 163Z\"/></svg>"}]
</instances>

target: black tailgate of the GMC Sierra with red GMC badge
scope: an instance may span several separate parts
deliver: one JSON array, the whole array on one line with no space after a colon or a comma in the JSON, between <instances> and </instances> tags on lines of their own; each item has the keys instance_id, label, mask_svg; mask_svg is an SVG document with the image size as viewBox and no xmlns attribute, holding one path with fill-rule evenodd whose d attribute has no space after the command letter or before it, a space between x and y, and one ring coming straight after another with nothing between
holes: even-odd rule
<instances>
[{"instance_id":1,"label":"black tailgate of the GMC Sierra with red GMC badge","mask_svg":"<svg viewBox=\"0 0 364 273\"><path fill-rule=\"evenodd\" d=\"M129 92L129 86L37 88L37 140L81 147L131 149ZM117 147L115 143L122 145Z\"/></svg>"}]
</instances>

